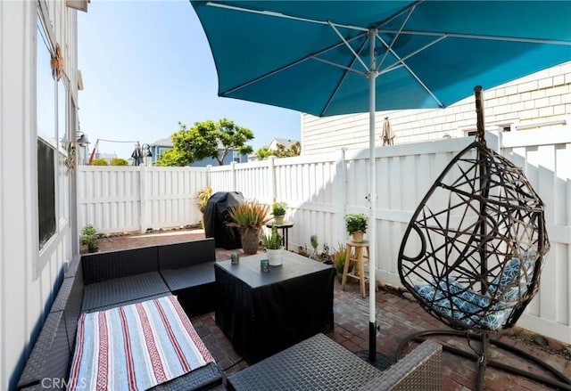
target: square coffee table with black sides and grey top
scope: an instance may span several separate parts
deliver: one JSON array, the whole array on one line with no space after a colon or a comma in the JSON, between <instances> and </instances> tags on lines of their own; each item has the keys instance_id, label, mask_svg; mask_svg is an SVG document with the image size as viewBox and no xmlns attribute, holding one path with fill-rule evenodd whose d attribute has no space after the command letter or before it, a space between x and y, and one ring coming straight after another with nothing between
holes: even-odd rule
<instances>
[{"instance_id":1,"label":"square coffee table with black sides and grey top","mask_svg":"<svg viewBox=\"0 0 571 391\"><path fill-rule=\"evenodd\" d=\"M214 266L216 323L250 363L333 329L335 268L284 250L283 265L261 273L264 257Z\"/></svg>"}]
</instances>

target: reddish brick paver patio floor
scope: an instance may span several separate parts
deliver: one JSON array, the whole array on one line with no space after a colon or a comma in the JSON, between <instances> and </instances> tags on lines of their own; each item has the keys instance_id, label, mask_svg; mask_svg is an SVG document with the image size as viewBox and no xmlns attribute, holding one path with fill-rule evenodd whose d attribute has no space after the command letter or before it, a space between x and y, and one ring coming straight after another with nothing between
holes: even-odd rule
<instances>
[{"instance_id":1,"label":"reddish brick paver patio floor","mask_svg":"<svg viewBox=\"0 0 571 391\"><path fill-rule=\"evenodd\" d=\"M121 248L136 248L161 243L170 243L186 240L203 239L202 230L180 230L167 232L153 232L137 235L116 236L102 239L100 250L108 251ZM230 252L217 248L217 259L229 258ZM240 250L238 250L240 251ZM354 352L368 349L368 297L361 297L359 286L349 284L344 291L340 288L338 280L335 281L335 329L327 333L339 344ZM199 332L205 345L210 349L219 367L225 375L230 375L247 367L239 354L236 354L228 338L219 330L214 321L214 314L203 314L193 317L194 327ZM443 324L435 320L414 301L403 297L393 289L379 289L377 292L377 350L393 358L397 346L411 332L444 328ZM521 331L521 330L518 330ZM278 338L278 336L277 336ZM447 339L444 337L444 339ZM540 357L542 361L549 362L558 371L571 377L571 350L559 341L543 340L549 346L539 346L532 342L525 330L517 337L501 336L501 340L511 346L517 346L530 354ZM465 338L449 339L449 343L469 350ZM476 341L472 342L475 348ZM531 362L523 361L510 354L492 349L491 359L513 364L520 369L531 371L542 376L550 376ZM444 390L470 390L476 384L476 362L460 358L457 355L444 353L443 360L443 389ZM485 376L485 390L547 390L551 389L534 380L511 375L505 371L489 368Z\"/></svg>"}]
</instances>

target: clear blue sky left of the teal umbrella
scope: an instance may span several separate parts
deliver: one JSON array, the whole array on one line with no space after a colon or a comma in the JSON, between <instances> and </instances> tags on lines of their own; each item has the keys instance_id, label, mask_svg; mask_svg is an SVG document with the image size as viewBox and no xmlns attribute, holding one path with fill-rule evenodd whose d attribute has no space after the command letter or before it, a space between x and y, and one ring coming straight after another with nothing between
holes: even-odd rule
<instances>
[{"instance_id":1,"label":"clear blue sky left of the teal umbrella","mask_svg":"<svg viewBox=\"0 0 571 391\"><path fill-rule=\"evenodd\" d=\"M218 77L191 4L177 1L92 1L78 12L79 123L97 139L153 143L178 122L228 118L252 130L254 150L275 137L299 140L300 113L219 98ZM127 159L133 143L99 143Z\"/></svg>"}]
</instances>

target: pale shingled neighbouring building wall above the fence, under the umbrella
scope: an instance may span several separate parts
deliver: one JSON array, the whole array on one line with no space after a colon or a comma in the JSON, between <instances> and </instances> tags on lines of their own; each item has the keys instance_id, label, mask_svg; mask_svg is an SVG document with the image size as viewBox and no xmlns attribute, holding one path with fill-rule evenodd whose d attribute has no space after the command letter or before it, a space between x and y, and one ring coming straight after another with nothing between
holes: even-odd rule
<instances>
[{"instance_id":1,"label":"pale shingled neighbouring building wall above the fence, under the umbrella","mask_svg":"<svg viewBox=\"0 0 571 391\"><path fill-rule=\"evenodd\" d=\"M440 140L445 134L465 136L476 127L476 106L468 98L446 109L379 111L377 145L382 145L383 121L388 117L396 134L394 144ZM571 120L571 62L544 69L511 83L484 91L486 128L550 129ZM564 123L565 122L565 123ZM517 128L519 126L519 128ZM319 118L302 114L302 153L368 148L368 113Z\"/></svg>"}]
</instances>

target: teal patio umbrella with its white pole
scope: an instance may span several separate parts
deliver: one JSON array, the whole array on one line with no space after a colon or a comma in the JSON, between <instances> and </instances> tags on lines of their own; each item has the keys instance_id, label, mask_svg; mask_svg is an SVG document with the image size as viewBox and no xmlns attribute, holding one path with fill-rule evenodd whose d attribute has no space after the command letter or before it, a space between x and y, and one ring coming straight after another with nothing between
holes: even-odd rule
<instances>
[{"instance_id":1,"label":"teal patio umbrella with its white pole","mask_svg":"<svg viewBox=\"0 0 571 391\"><path fill-rule=\"evenodd\" d=\"M194 1L219 96L369 113L369 354L376 362L375 112L444 108L571 61L567 1Z\"/></svg>"}]
</instances>

